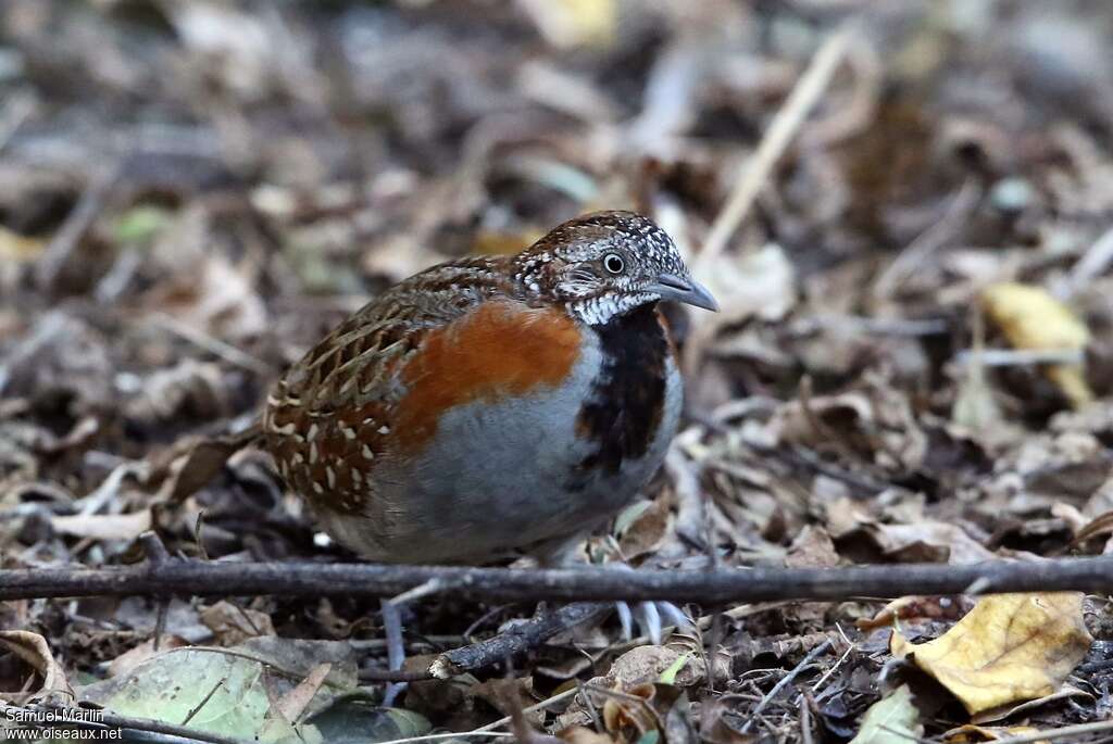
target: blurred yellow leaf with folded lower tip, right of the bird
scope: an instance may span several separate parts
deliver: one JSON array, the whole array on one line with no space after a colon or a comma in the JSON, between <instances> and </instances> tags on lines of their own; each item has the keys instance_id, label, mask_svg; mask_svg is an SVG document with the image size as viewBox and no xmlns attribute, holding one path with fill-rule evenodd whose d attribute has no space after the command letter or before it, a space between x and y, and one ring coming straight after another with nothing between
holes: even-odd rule
<instances>
[{"instance_id":1,"label":"blurred yellow leaf with folded lower tip, right of the bird","mask_svg":"<svg viewBox=\"0 0 1113 744\"><path fill-rule=\"evenodd\" d=\"M982 292L982 305L1018 349L1082 350L1090 343L1086 325L1042 287L996 284ZM1093 398L1082 365L1048 365L1046 375L1074 407Z\"/></svg>"}]
</instances>

